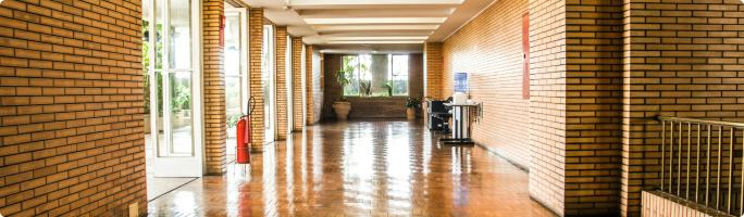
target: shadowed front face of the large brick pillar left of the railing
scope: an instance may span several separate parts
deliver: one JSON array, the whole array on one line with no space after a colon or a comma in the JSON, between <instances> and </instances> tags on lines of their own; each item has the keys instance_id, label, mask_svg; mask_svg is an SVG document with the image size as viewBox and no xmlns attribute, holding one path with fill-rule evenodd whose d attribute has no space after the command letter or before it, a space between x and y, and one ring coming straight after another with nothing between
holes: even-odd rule
<instances>
[{"instance_id":1,"label":"shadowed front face of the large brick pillar left of the railing","mask_svg":"<svg viewBox=\"0 0 744 217\"><path fill-rule=\"evenodd\" d=\"M622 2L566 5L566 215L619 215Z\"/></svg>"}]
</instances>

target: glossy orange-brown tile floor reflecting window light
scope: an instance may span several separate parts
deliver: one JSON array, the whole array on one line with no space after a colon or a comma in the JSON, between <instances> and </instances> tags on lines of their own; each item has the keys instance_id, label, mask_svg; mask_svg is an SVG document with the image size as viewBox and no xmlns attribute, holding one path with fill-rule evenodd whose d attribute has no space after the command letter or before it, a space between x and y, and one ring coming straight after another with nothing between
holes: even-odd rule
<instances>
[{"instance_id":1,"label":"glossy orange-brown tile floor reflecting window light","mask_svg":"<svg viewBox=\"0 0 744 217\"><path fill-rule=\"evenodd\" d=\"M554 216L528 173L421 119L325 122L149 203L150 216Z\"/></svg>"}]
</instances>

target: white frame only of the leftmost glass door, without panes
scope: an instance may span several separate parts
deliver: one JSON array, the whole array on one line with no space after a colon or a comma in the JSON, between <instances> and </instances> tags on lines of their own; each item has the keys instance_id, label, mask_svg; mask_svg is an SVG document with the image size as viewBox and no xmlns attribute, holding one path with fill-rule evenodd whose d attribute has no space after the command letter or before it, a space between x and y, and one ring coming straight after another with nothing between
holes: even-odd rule
<instances>
[{"instance_id":1,"label":"white frame only of the leftmost glass door, without panes","mask_svg":"<svg viewBox=\"0 0 744 217\"><path fill-rule=\"evenodd\" d=\"M203 81L202 81L202 76L203 76L203 60L202 60L202 47L201 47L201 38L202 38L202 31L201 31L201 26L202 26L202 2L199 0L191 1L191 21L196 20L197 22L191 22L191 68L174 68L174 69L156 69L156 55L157 55L157 29L156 29L156 21L157 21L157 9L156 9L156 1L152 0L149 1L148 3L149 9L150 9L150 16L152 17L150 21L150 36L149 38L151 39L151 48L150 49L150 117L152 120L151 123L151 129L153 129L153 132L150 133L152 137L152 151L153 151L153 175L156 177L201 177L204 175L204 129L203 129ZM168 8L168 4L165 7ZM168 13L168 12L165 12ZM170 22L170 21L164 21L164 22ZM166 36L163 36L164 42L166 42L165 38ZM163 59L166 59L164 55ZM158 92L157 92L157 87L158 87L158 73L175 73L175 72L191 72L191 102L193 102L193 107L191 107L191 129L193 129L193 155L191 156L159 156L158 150L160 149L159 144L159 128L158 128ZM166 85L170 84L169 80L163 79L163 82ZM152 90L154 89L154 91ZM165 87L163 87L163 90L165 90ZM165 97L164 97L165 98ZM169 101L163 99L163 101ZM170 102L163 102L163 106L165 106ZM163 108L165 110L165 108ZM168 128L168 125L170 125L170 118L166 119L165 117L170 116L170 113L164 111L163 112L163 126L164 128Z\"/></svg>"}]
</instances>

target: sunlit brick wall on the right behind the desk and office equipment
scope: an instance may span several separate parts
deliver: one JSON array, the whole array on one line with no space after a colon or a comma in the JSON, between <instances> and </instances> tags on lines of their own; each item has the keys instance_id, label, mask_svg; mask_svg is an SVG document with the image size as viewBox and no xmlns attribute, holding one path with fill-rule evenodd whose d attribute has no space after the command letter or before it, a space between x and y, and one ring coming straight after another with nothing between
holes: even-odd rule
<instances>
[{"instance_id":1,"label":"sunlit brick wall on the right behind the desk and office equipment","mask_svg":"<svg viewBox=\"0 0 744 217\"><path fill-rule=\"evenodd\" d=\"M472 125L473 140L523 168L530 165L524 142L530 138L530 101L522 99L521 47L526 4L496 2L445 40L441 88L443 98L451 97L454 73L468 73L468 93L483 102L481 124Z\"/></svg>"}]
</instances>

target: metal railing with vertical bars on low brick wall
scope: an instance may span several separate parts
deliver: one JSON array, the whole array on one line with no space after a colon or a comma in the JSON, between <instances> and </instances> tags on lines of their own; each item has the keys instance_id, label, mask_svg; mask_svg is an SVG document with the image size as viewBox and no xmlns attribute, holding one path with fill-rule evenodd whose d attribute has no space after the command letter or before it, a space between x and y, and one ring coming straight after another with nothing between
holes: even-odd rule
<instances>
[{"instance_id":1,"label":"metal railing with vertical bars on low brick wall","mask_svg":"<svg viewBox=\"0 0 744 217\"><path fill-rule=\"evenodd\" d=\"M661 122L661 191L744 216L744 124L657 119Z\"/></svg>"}]
</instances>

